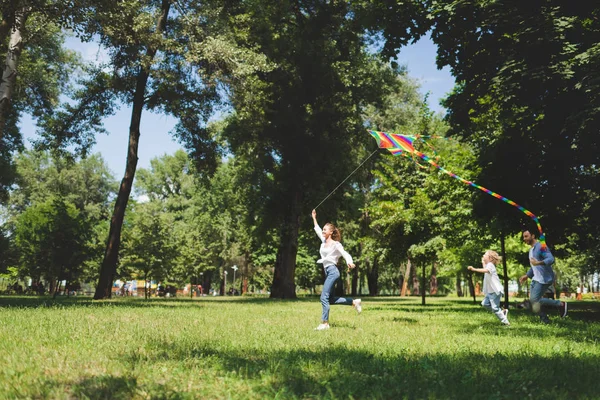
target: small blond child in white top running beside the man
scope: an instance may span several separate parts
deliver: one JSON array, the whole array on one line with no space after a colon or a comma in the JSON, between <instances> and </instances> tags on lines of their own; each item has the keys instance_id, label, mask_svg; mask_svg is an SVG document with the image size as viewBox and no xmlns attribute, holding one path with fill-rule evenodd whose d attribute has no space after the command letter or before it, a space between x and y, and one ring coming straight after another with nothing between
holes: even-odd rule
<instances>
[{"instance_id":1,"label":"small blond child in white top running beside the man","mask_svg":"<svg viewBox=\"0 0 600 400\"><path fill-rule=\"evenodd\" d=\"M496 272L496 265L500 263L500 256L498 253L492 250L488 250L483 254L481 258L481 265L483 268L473 268L469 265L468 270L473 272L479 272L485 274L483 277L483 294L485 298L481 302L481 305L496 314L496 317L502 322L503 325L510 325L506 315L508 310L502 310L500 308L500 299L504 294L500 278Z\"/></svg>"}]
</instances>

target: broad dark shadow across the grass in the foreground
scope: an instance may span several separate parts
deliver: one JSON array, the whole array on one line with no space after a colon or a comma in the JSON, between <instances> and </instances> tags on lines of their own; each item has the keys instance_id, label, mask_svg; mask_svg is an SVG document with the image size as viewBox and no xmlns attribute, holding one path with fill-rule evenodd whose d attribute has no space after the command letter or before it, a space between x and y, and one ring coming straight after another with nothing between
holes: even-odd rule
<instances>
[{"instance_id":1,"label":"broad dark shadow across the grass in the foreground","mask_svg":"<svg viewBox=\"0 0 600 400\"><path fill-rule=\"evenodd\" d=\"M315 333L316 335L322 333ZM189 345L187 345L189 346ZM464 352L383 356L346 347L264 351L155 342L137 362L196 359L279 398L596 398L600 357ZM265 379L268 377L268 379ZM566 379L568 377L568 379ZM256 397L250 393L242 398Z\"/></svg>"}]
</instances>

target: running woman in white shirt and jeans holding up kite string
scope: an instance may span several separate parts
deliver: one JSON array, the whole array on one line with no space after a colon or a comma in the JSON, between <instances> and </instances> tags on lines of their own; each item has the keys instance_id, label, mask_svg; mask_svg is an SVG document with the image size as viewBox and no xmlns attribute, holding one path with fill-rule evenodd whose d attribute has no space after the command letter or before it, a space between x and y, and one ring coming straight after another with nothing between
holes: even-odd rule
<instances>
[{"instance_id":1,"label":"running woman in white shirt and jeans holding up kite string","mask_svg":"<svg viewBox=\"0 0 600 400\"><path fill-rule=\"evenodd\" d=\"M325 269L325 283L323 284L323 291L321 292L321 304L323 305L323 314L321 316L321 324L317 326L315 330L322 331L329 329L329 306L330 304L345 304L353 306L356 311L360 314L362 311L360 299L353 300L351 298L334 297L335 282L340 279L340 271L337 269L337 261L340 257L344 257L348 268L354 268L354 262L352 257L348 254L340 240L340 232L337 228L330 223L325 224L323 229L317 223L317 212L312 211L313 222L315 223L315 232L319 239L321 239L321 259L317 261L319 264L323 264Z\"/></svg>"}]
</instances>

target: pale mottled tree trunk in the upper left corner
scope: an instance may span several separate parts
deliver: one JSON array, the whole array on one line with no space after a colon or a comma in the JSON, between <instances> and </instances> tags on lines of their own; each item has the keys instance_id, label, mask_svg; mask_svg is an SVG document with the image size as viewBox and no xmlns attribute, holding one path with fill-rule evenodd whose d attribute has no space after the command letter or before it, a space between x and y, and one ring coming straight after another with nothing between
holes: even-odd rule
<instances>
[{"instance_id":1,"label":"pale mottled tree trunk in the upper left corner","mask_svg":"<svg viewBox=\"0 0 600 400\"><path fill-rule=\"evenodd\" d=\"M9 30L11 32L10 40L8 49L6 50L4 68L2 69L2 80L0 81L0 140L4 136L6 118L10 112L12 94L15 83L17 82L19 56L25 45L23 41L23 29L25 28L25 21L27 21L30 12L30 7L24 7L17 10L14 14L12 30ZM2 30L6 31L5 24L2 26ZM2 37L2 39L3 38L4 37Z\"/></svg>"}]
</instances>

